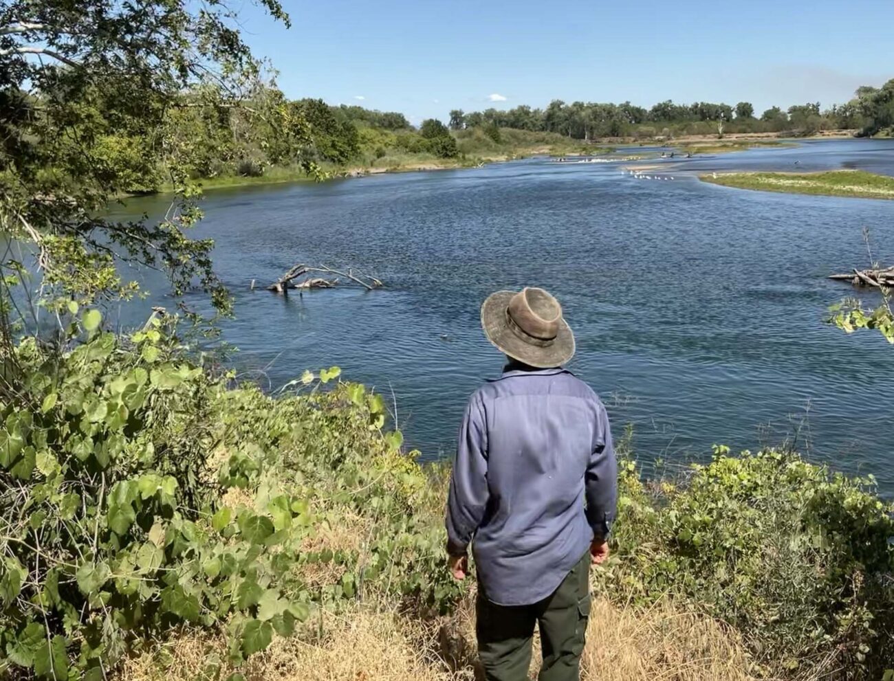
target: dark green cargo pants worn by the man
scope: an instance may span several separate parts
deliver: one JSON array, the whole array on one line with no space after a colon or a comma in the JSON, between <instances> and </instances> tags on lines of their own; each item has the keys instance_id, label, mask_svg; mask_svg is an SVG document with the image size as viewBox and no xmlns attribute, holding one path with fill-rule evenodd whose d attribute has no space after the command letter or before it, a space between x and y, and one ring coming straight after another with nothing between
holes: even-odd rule
<instances>
[{"instance_id":1,"label":"dark green cargo pants worn by the man","mask_svg":"<svg viewBox=\"0 0 894 681\"><path fill-rule=\"evenodd\" d=\"M478 589L478 654L488 681L523 681L531 666L531 638L540 627L544 652L540 681L578 681L590 615L590 553L571 568L550 596L533 605L506 606Z\"/></svg>"}]
</instances>

